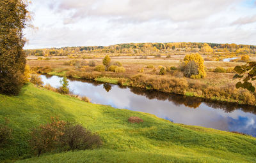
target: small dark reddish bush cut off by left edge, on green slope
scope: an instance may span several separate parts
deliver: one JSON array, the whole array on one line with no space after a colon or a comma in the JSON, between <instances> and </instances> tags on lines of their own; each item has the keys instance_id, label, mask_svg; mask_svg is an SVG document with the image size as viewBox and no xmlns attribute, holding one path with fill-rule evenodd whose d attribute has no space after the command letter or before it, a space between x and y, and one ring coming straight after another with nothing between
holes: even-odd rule
<instances>
[{"instance_id":1,"label":"small dark reddish bush cut off by left edge, on green slope","mask_svg":"<svg viewBox=\"0 0 256 163\"><path fill-rule=\"evenodd\" d=\"M0 124L0 147L8 144L12 138L12 130L8 127L8 120L5 118L4 124Z\"/></svg>"}]
</instances>

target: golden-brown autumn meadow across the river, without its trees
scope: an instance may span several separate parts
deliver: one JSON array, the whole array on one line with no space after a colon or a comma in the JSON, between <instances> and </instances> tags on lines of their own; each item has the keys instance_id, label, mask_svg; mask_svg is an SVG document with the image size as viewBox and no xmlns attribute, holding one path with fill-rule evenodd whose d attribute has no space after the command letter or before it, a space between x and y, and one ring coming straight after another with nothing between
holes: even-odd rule
<instances>
[{"instance_id":1,"label":"golden-brown autumn meadow across the river, without its trees","mask_svg":"<svg viewBox=\"0 0 256 163\"><path fill-rule=\"evenodd\" d=\"M98 54L104 56L106 53ZM184 94L189 96L204 97L219 101L235 102L239 104L255 105L255 94L247 90L237 90L234 80L234 67L241 66L244 62L223 62L213 61L215 55L202 55L204 58L207 76L202 79L184 78L179 67L185 55L164 55L161 57L148 56L117 56L111 57L111 64L120 63L125 68L125 72L115 73L111 71L97 72L95 66L102 65L103 57L92 59L70 58L70 57L52 57L42 58L28 57L29 66L37 73L52 74L58 76L69 76L72 78L85 78L109 83L120 83L121 85L130 85L144 89L156 89L163 92L172 92L175 94ZM239 56L237 56L239 58ZM250 60L255 60L253 55ZM94 62L90 66L90 62ZM89 66L88 66L89 65ZM150 67L148 67L150 66ZM169 71L165 75L159 75L161 67L166 67ZM216 67L221 67L223 71L214 72ZM172 69L174 68L174 69ZM104 78L104 80L102 80ZM122 81L118 82L118 80ZM161 79L161 80L160 80ZM156 81L157 80L157 81ZM173 82L170 82L174 80ZM159 83L163 83L159 85ZM175 84L178 83L178 84ZM173 90L172 88L180 88Z\"/></svg>"}]
</instances>

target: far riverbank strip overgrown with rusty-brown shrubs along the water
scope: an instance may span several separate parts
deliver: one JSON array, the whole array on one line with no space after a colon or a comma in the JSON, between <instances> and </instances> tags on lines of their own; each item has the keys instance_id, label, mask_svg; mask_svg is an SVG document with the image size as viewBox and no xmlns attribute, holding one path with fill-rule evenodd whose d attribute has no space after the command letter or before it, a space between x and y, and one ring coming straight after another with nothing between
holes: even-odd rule
<instances>
[{"instance_id":1,"label":"far riverbank strip overgrown with rusty-brown shrubs along the water","mask_svg":"<svg viewBox=\"0 0 256 163\"><path fill-rule=\"evenodd\" d=\"M200 97L214 101L246 104L250 106L256 105L255 94L252 94L248 90L236 89L234 82L218 86L217 83L216 85L212 85L212 83L205 83L201 80L143 73L139 73L133 76L99 72L86 73L81 71L51 71L44 73L56 76L68 76L69 78L79 78L100 81L104 83L113 83L122 86L140 87L147 90L157 90L184 96ZM216 80L216 78L212 80Z\"/></svg>"}]
</instances>

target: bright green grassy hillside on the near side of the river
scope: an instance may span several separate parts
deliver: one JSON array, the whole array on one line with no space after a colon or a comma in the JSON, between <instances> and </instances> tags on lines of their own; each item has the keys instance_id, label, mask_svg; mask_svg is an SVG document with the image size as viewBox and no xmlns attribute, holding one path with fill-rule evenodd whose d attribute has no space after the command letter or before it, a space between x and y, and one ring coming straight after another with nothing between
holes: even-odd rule
<instances>
[{"instance_id":1,"label":"bright green grassy hillside on the near side of the river","mask_svg":"<svg viewBox=\"0 0 256 163\"><path fill-rule=\"evenodd\" d=\"M90 92L88 92L90 93ZM138 116L143 124L130 124ZM0 95L0 121L10 120L12 143L0 149L1 160L33 157L29 129L50 117L76 120L98 132L104 145L96 150L47 153L17 162L256 162L256 138L190 125L173 124L154 115L84 103L74 97L26 85L17 97Z\"/></svg>"}]
</instances>

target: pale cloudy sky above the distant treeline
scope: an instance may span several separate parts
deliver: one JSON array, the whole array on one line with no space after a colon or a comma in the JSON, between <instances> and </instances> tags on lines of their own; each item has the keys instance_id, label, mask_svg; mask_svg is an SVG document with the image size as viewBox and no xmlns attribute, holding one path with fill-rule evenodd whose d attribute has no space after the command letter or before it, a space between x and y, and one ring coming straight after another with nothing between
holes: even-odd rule
<instances>
[{"instance_id":1,"label":"pale cloudy sky above the distant treeline","mask_svg":"<svg viewBox=\"0 0 256 163\"><path fill-rule=\"evenodd\" d=\"M256 0L31 0L25 47L208 42L256 45Z\"/></svg>"}]
</instances>

